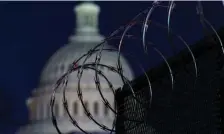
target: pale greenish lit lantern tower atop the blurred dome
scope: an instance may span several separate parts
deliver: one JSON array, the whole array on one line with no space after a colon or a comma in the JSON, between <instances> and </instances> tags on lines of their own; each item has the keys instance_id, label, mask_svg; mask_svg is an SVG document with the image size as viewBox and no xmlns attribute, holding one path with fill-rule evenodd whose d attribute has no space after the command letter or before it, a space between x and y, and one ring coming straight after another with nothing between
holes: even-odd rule
<instances>
[{"instance_id":1,"label":"pale greenish lit lantern tower atop the blurred dome","mask_svg":"<svg viewBox=\"0 0 224 134\"><path fill-rule=\"evenodd\" d=\"M75 35L69 37L69 44L102 42L104 37L100 35L98 28L100 7L93 1L85 1L75 6L74 12L76 14Z\"/></svg>"}]
</instances>

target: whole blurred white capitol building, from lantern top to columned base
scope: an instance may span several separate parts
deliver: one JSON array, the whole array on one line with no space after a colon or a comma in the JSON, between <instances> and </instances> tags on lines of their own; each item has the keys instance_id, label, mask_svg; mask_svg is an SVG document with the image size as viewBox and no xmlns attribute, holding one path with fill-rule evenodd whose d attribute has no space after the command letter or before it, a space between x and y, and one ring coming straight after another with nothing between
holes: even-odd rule
<instances>
[{"instance_id":1,"label":"whole blurred white capitol building, from lantern top to columned base","mask_svg":"<svg viewBox=\"0 0 224 134\"><path fill-rule=\"evenodd\" d=\"M76 13L76 31L69 38L68 44L62 46L44 66L40 76L38 88L33 92L33 96L28 99L27 105L30 110L30 124L22 127L19 134L56 134L56 129L51 122L49 100L52 94L52 85L68 70L71 63L91 48L101 43L104 37L99 34L98 15L100 7L93 2L83 2L74 8ZM113 48L106 42L104 48ZM96 54L93 54L86 63L95 61ZM118 54L116 52L102 52L101 64L117 66ZM81 60L78 64L82 64ZM128 62L121 56L121 64L124 76L129 80L133 79L133 72ZM107 79L113 84L114 88L123 85L120 76L106 67L99 67ZM94 82L95 71L84 70L81 78L81 89L83 93L84 104L94 119L100 124L112 128L114 113L108 109L102 102L102 97L96 89ZM76 119L79 126L87 132L105 132L98 125L91 121L84 112L81 102L77 96L77 72L69 75L68 86L66 88L66 97L68 101L69 112ZM114 106L114 95L109 89L109 85L103 77L100 77L102 94L108 100L111 106ZM80 132L72 125L68 115L62 105L62 92L56 93L55 115L58 119L59 128L62 132Z\"/></svg>"}]
</instances>

